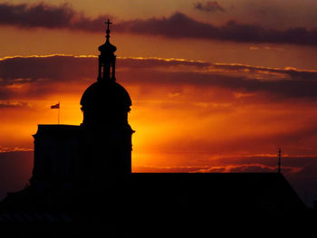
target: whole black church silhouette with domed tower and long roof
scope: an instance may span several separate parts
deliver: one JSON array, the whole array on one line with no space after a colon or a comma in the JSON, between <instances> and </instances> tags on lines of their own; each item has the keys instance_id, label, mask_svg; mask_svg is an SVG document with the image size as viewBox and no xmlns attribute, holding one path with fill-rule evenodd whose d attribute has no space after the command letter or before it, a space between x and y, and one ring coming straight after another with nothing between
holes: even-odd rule
<instances>
[{"instance_id":1,"label":"whole black church silhouette with domed tower and long roof","mask_svg":"<svg viewBox=\"0 0 317 238\"><path fill-rule=\"evenodd\" d=\"M131 100L116 82L117 48L107 24L97 81L82 94L82 124L38 125L30 186L0 203L1 233L180 237L315 221L281 173L131 173Z\"/></svg>"}]
</instances>

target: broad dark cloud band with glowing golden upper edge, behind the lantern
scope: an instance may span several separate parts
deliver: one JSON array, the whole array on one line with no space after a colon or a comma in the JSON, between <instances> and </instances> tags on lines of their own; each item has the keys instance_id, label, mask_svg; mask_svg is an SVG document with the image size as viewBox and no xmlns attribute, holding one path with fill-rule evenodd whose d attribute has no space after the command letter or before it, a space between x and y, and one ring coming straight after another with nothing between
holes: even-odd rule
<instances>
[{"instance_id":1,"label":"broad dark cloud band with glowing golden upper edge, behind the lantern","mask_svg":"<svg viewBox=\"0 0 317 238\"><path fill-rule=\"evenodd\" d=\"M95 80L96 65L97 58L94 57L62 55L2 60L0 100L8 100L14 93L15 96L28 93L29 96L36 97L54 91L78 90L80 86L75 85L88 85ZM118 59L118 66L118 79L128 84L217 87L233 92L261 92L265 93L268 99L317 97L316 71L132 58ZM72 87L65 87L66 85ZM27 90L19 91L19 88Z\"/></svg>"}]
</instances>

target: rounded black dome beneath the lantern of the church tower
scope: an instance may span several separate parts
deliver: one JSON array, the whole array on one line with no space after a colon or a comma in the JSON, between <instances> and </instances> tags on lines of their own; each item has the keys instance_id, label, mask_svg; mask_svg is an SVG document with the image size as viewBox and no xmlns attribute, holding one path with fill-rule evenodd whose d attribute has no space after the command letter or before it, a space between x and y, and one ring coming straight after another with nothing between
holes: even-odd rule
<instances>
[{"instance_id":1,"label":"rounded black dome beneath the lantern of the church tower","mask_svg":"<svg viewBox=\"0 0 317 238\"><path fill-rule=\"evenodd\" d=\"M123 109L130 110L131 100L127 90L116 81L96 81L82 94L82 110Z\"/></svg>"}]
</instances>

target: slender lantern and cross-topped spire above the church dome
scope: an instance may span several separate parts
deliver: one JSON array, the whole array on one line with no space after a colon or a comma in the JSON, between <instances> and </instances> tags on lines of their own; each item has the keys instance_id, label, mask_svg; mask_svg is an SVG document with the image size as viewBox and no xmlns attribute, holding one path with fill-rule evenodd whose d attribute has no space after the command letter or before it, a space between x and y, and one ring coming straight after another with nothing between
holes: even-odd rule
<instances>
[{"instance_id":1,"label":"slender lantern and cross-topped spire above the church dome","mask_svg":"<svg viewBox=\"0 0 317 238\"><path fill-rule=\"evenodd\" d=\"M116 65L116 55L114 52L117 50L117 47L113 44L110 44L110 19L107 22L107 31L106 31L106 43L99 46L98 50L101 52L99 55L99 70L98 70L98 81L115 81L115 65Z\"/></svg>"}]
</instances>

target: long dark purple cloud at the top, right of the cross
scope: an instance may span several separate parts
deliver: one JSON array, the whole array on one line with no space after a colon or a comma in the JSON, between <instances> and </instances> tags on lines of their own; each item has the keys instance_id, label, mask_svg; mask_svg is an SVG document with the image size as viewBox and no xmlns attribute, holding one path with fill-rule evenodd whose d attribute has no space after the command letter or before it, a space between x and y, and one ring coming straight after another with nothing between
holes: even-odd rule
<instances>
[{"instance_id":1,"label":"long dark purple cloud at the top, right of the cross","mask_svg":"<svg viewBox=\"0 0 317 238\"><path fill-rule=\"evenodd\" d=\"M120 32L163 35L170 38L199 38L241 43L317 44L317 29L267 29L257 24L229 21L222 26L198 22L186 14L176 13L166 18L132 20L115 25Z\"/></svg>"}]
</instances>

